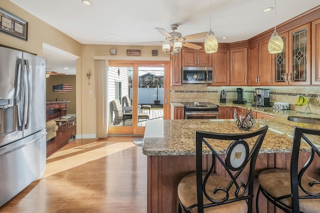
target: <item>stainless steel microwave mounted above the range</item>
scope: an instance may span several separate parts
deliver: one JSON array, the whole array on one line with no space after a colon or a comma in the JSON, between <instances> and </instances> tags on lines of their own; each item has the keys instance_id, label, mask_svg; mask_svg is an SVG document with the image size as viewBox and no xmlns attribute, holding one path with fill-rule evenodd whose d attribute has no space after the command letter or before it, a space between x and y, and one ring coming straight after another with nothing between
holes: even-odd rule
<instances>
[{"instance_id":1,"label":"stainless steel microwave mounted above the range","mask_svg":"<svg viewBox=\"0 0 320 213\"><path fill-rule=\"evenodd\" d=\"M212 67L182 67L183 84L208 84L212 82Z\"/></svg>"}]
</instances>

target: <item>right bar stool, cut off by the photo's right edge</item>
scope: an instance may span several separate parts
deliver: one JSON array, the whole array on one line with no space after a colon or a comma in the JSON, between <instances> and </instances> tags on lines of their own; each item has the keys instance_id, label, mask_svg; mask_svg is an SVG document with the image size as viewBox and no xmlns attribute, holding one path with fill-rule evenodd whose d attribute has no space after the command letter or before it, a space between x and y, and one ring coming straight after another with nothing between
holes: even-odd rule
<instances>
[{"instance_id":1,"label":"right bar stool, cut off by the photo's right edge","mask_svg":"<svg viewBox=\"0 0 320 213\"><path fill-rule=\"evenodd\" d=\"M315 156L316 161L320 157L319 150L311 142L319 142L319 136L320 130L294 127L290 171L267 169L259 174L259 189L256 196L257 213L259 212L257 203L259 192L275 207L286 213L320 212L319 179L315 180L307 176L307 169L312 164L314 155L317 155ZM299 161L301 143L310 147L310 155L307 162Z\"/></svg>"}]
</instances>

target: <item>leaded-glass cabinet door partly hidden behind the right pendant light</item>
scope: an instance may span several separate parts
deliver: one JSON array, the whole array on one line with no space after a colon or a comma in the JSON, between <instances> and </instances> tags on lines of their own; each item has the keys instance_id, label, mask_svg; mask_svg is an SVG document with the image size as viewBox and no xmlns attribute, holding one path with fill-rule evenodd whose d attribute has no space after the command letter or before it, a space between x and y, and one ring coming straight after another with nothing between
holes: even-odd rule
<instances>
[{"instance_id":1,"label":"leaded-glass cabinet door partly hidden behind the right pendant light","mask_svg":"<svg viewBox=\"0 0 320 213\"><path fill-rule=\"evenodd\" d=\"M288 52L289 32L280 34L283 41L283 51L272 54L272 85L288 85Z\"/></svg>"}]
</instances>

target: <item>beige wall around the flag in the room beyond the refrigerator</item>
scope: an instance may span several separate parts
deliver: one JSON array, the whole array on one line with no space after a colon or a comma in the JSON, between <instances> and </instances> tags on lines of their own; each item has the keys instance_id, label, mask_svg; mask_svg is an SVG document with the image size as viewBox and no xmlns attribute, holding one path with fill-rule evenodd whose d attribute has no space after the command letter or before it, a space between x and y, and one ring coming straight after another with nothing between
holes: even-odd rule
<instances>
[{"instance_id":1,"label":"beige wall around the flag in the room beyond the refrigerator","mask_svg":"<svg viewBox=\"0 0 320 213\"><path fill-rule=\"evenodd\" d=\"M67 103L67 113L76 114L75 110L75 94L76 94L76 84L75 75L50 75L46 78L46 101L55 101L57 98L59 101L68 100ZM59 93L53 92L52 86L57 84L68 84L72 86L71 92Z\"/></svg>"}]
</instances>

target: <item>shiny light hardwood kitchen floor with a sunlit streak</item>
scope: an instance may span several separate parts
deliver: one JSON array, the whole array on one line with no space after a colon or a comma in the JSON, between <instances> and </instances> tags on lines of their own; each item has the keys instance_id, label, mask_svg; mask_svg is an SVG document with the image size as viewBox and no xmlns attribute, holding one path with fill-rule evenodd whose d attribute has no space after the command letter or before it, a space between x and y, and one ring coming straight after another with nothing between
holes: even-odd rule
<instances>
[{"instance_id":1,"label":"shiny light hardwood kitchen floor with a sunlit streak","mask_svg":"<svg viewBox=\"0 0 320 213\"><path fill-rule=\"evenodd\" d=\"M0 212L146 213L146 161L132 137L75 139L50 155L43 177Z\"/></svg>"}]
</instances>

